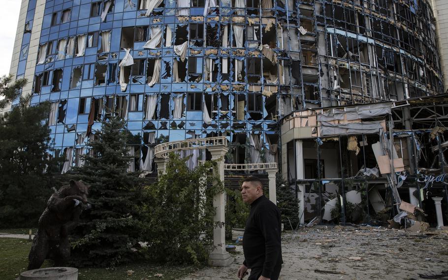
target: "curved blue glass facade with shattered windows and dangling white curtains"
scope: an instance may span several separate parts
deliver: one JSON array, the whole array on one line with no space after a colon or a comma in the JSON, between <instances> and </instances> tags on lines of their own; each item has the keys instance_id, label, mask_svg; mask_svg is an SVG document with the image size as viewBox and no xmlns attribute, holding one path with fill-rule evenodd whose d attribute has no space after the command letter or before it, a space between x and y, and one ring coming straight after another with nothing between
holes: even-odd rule
<instances>
[{"instance_id":1,"label":"curved blue glass facade with shattered windows and dangling white curtains","mask_svg":"<svg viewBox=\"0 0 448 280\"><path fill-rule=\"evenodd\" d=\"M443 91L428 7L426 0L48 0L32 104L52 102L52 138L73 159L68 166L81 164L89 137L112 114L140 136L131 143L141 158L135 169L161 141L221 135L231 143L227 162L279 161L277 122L293 110ZM132 62L120 66L127 50Z\"/></svg>"}]
</instances>

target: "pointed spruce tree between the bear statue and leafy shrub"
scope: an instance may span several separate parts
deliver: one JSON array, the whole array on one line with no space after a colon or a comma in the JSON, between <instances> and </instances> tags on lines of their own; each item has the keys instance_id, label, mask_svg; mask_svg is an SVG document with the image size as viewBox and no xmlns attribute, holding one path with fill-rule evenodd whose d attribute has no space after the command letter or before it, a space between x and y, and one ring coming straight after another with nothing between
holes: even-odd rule
<instances>
[{"instance_id":1,"label":"pointed spruce tree between the bear statue and leafy shrub","mask_svg":"<svg viewBox=\"0 0 448 280\"><path fill-rule=\"evenodd\" d=\"M128 173L129 132L113 117L96 131L96 139L89 143L93 152L84 156L85 165L73 170L75 179L90 185L91 204L72 235L71 260L78 267L113 267L138 256L143 197L139 173Z\"/></svg>"}]
</instances>

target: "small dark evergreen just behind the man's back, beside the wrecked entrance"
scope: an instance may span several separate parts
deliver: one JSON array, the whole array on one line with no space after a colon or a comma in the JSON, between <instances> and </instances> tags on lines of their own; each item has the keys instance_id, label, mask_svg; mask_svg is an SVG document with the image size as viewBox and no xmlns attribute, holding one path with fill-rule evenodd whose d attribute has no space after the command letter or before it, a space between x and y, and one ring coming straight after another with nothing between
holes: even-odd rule
<instances>
[{"instance_id":1,"label":"small dark evergreen just behind the man's back, beside the wrecked entrance","mask_svg":"<svg viewBox=\"0 0 448 280\"><path fill-rule=\"evenodd\" d=\"M277 174L276 178L276 187L277 187L277 207L280 209L282 213L282 223L285 225L285 229L290 230L292 227L297 226L299 223L299 202L295 197L295 194L288 182L283 179L280 173Z\"/></svg>"}]
</instances>

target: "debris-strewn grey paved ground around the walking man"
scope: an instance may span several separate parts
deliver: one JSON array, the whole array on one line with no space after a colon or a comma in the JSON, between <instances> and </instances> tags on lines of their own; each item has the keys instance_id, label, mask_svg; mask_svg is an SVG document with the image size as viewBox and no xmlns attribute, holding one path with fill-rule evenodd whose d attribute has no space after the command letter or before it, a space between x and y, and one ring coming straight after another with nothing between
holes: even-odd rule
<instances>
[{"instance_id":1,"label":"debris-strewn grey paved ground around the walking man","mask_svg":"<svg viewBox=\"0 0 448 280\"><path fill-rule=\"evenodd\" d=\"M282 240L282 280L417 280L418 274L448 270L447 231L312 228L285 233ZM234 257L229 267L204 268L183 280L236 280L242 246Z\"/></svg>"}]
</instances>

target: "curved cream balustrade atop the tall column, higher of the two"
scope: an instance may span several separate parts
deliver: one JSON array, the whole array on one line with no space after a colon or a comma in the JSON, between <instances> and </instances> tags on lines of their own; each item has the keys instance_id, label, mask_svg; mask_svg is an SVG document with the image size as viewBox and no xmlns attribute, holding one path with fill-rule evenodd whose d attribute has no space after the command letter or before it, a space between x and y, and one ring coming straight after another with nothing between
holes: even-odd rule
<instances>
[{"instance_id":1,"label":"curved cream balustrade atop the tall column, higher of the two","mask_svg":"<svg viewBox=\"0 0 448 280\"><path fill-rule=\"evenodd\" d=\"M170 152L203 149L212 146L227 146L227 138L219 136L161 143L155 147L155 156L157 158L167 158Z\"/></svg>"}]
</instances>

